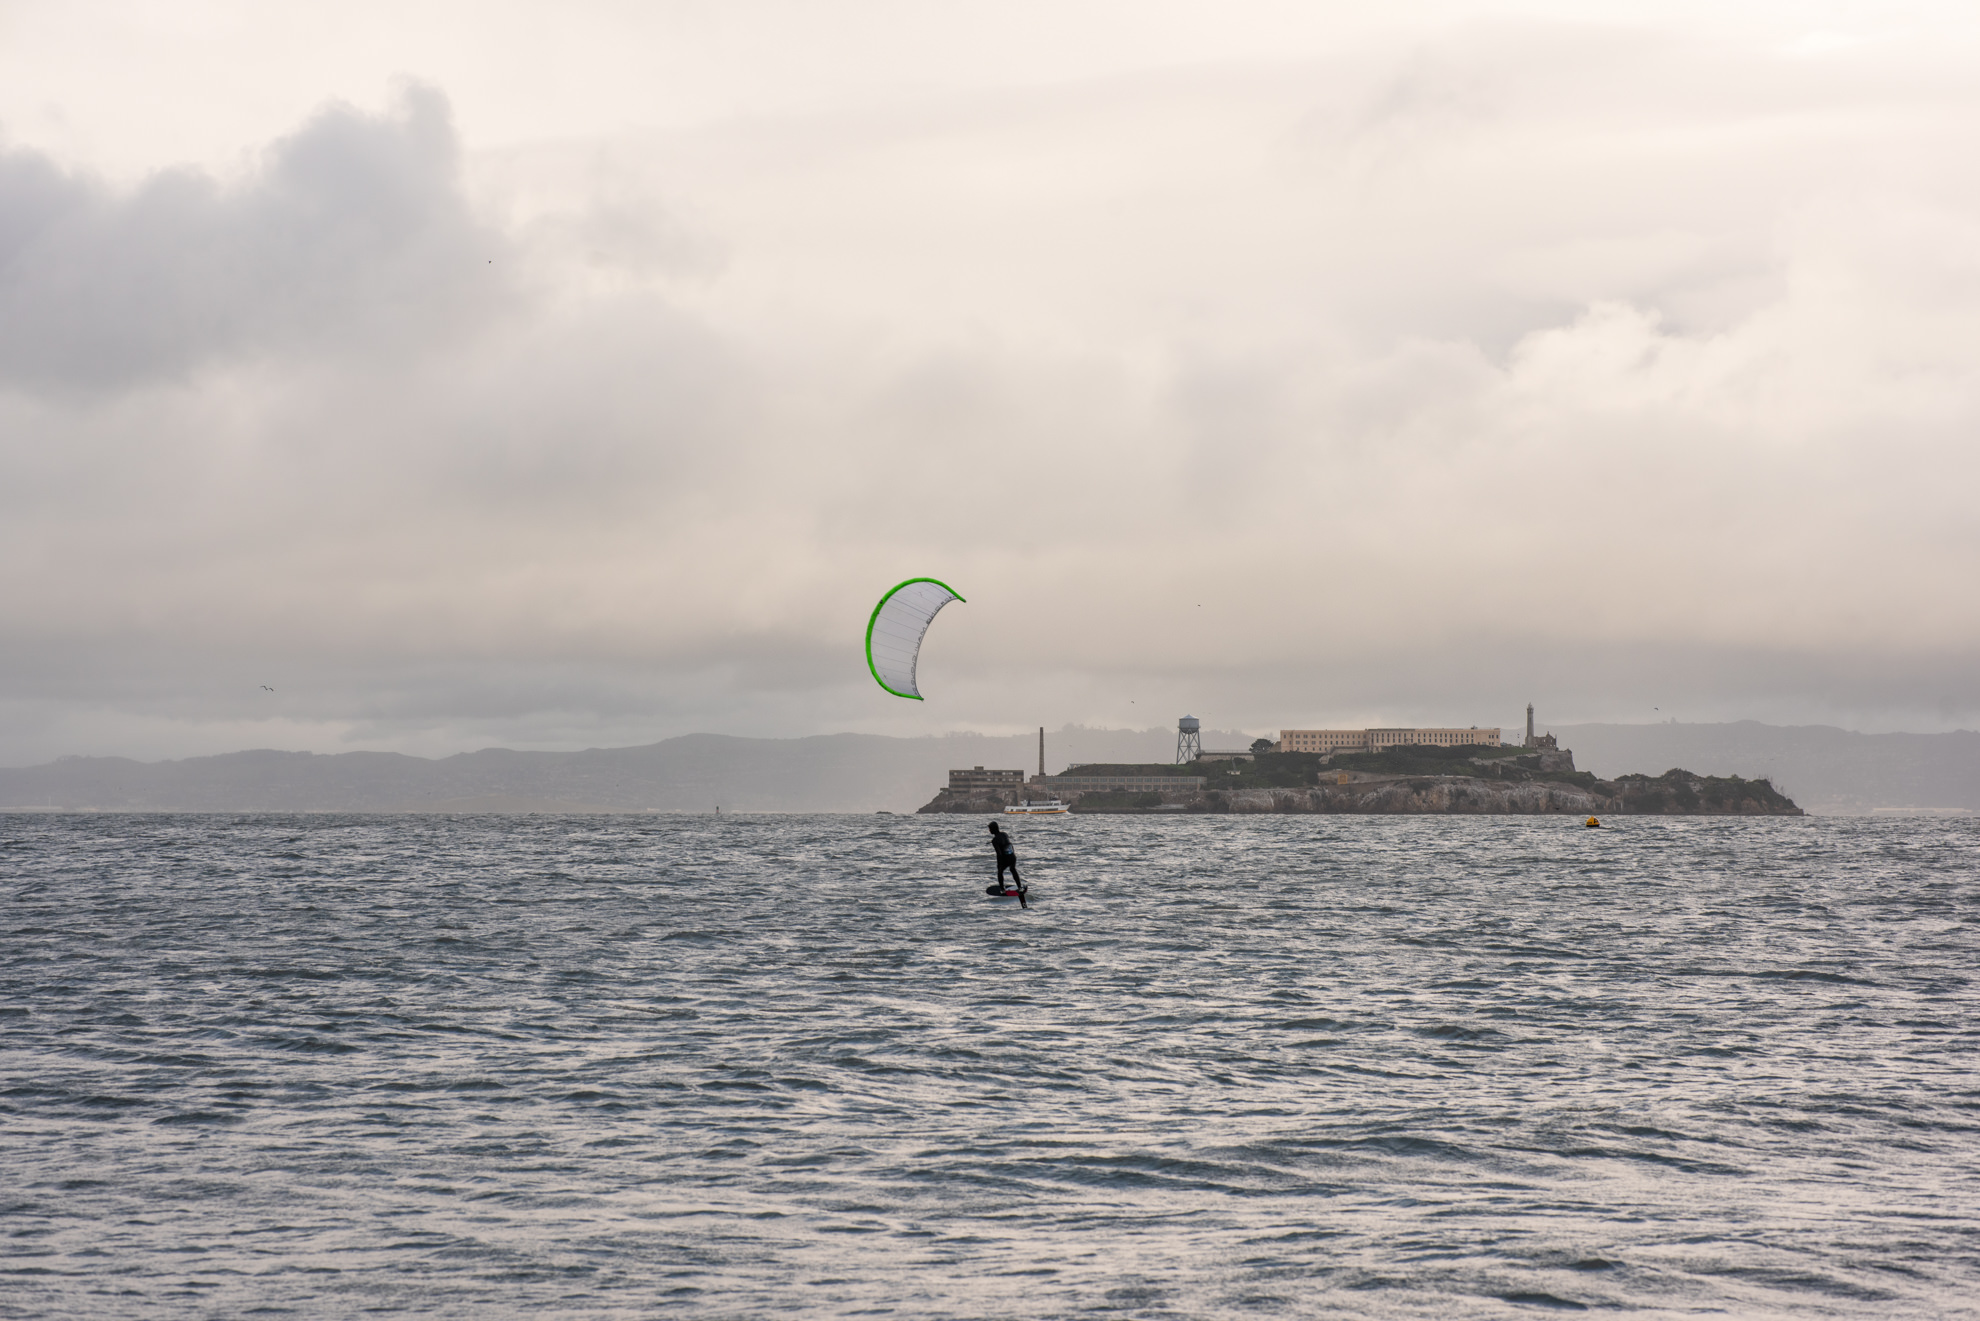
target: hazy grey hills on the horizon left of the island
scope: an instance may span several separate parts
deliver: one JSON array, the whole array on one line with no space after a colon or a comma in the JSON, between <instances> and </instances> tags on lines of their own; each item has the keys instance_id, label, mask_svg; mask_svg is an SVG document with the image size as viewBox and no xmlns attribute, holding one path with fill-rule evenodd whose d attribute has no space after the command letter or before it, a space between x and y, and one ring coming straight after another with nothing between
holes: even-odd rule
<instances>
[{"instance_id":1,"label":"hazy grey hills on the horizon left of the island","mask_svg":"<svg viewBox=\"0 0 1980 1321\"><path fill-rule=\"evenodd\" d=\"M1061 729L1067 761L1174 757L1172 731ZM1239 735L1230 735L1238 741ZM99 812L913 812L958 766L1038 768L1038 735L733 739L424 759L400 753L228 753L139 762L63 757L0 770L0 810Z\"/></svg>"}]
</instances>

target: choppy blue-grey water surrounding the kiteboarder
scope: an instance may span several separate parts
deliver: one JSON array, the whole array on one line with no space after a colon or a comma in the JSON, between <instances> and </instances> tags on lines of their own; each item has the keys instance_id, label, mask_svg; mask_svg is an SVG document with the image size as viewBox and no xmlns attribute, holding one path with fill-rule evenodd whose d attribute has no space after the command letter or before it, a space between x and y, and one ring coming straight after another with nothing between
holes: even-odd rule
<instances>
[{"instance_id":1,"label":"choppy blue-grey water surrounding the kiteboarder","mask_svg":"<svg viewBox=\"0 0 1980 1321\"><path fill-rule=\"evenodd\" d=\"M0 818L0 1313L1976 1315L1974 822Z\"/></svg>"}]
</instances>

